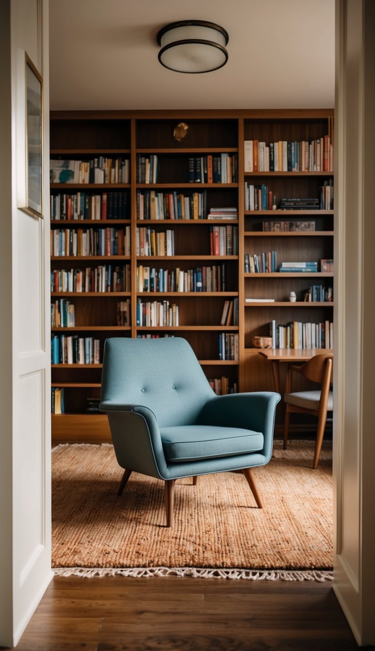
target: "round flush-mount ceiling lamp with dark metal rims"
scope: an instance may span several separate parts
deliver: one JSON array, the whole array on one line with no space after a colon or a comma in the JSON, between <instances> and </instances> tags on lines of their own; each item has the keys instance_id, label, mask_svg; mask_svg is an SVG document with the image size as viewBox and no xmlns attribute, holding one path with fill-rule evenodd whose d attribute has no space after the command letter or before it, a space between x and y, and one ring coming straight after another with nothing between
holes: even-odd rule
<instances>
[{"instance_id":1,"label":"round flush-mount ceiling lamp with dark metal rims","mask_svg":"<svg viewBox=\"0 0 375 651\"><path fill-rule=\"evenodd\" d=\"M180 20L160 30L158 59L175 72L211 72L228 61L227 31L205 20Z\"/></svg>"}]
</instances>

